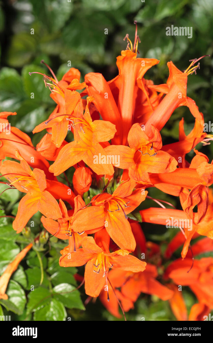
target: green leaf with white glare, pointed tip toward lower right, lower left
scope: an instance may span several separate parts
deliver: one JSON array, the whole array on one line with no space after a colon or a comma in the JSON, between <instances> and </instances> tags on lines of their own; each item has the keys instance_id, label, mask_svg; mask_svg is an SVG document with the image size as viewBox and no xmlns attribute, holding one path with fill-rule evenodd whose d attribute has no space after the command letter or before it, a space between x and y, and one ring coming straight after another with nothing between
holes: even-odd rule
<instances>
[{"instance_id":1,"label":"green leaf with white glare, pointed tip toward lower right, lower left","mask_svg":"<svg viewBox=\"0 0 213 343\"><path fill-rule=\"evenodd\" d=\"M75 288L75 286L69 285L68 283L61 283L53 288L54 298L61 301L67 308L85 310L80 293Z\"/></svg>"}]
</instances>

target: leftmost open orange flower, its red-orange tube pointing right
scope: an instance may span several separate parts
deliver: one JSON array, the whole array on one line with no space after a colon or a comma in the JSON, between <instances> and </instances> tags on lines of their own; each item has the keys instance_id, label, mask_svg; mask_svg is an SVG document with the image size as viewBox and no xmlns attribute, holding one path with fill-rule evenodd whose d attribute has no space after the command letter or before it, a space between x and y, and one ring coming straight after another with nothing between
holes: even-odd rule
<instances>
[{"instance_id":1,"label":"leftmost open orange flower, its red-orange tube pointing right","mask_svg":"<svg viewBox=\"0 0 213 343\"><path fill-rule=\"evenodd\" d=\"M10 181L10 185L14 185L19 191L26 193L19 202L18 212L13 222L14 230L19 233L37 211L52 219L61 218L62 212L55 197L58 199L64 197L72 202L74 193L70 190L72 195L68 197L67 186L57 181L46 180L43 170L34 168L32 171L18 151L15 155L21 160L21 164L4 161L0 170Z\"/></svg>"}]
</instances>

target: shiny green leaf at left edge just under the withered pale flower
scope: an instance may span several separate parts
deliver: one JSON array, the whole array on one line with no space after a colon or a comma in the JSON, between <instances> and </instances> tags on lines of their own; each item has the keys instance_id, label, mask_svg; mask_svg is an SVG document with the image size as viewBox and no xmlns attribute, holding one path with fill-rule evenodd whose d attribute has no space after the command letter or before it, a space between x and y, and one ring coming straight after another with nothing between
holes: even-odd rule
<instances>
[{"instance_id":1,"label":"shiny green leaf at left edge just under the withered pale flower","mask_svg":"<svg viewBox=\"0 0 213 343\"><path fill-rule=\"evenodd\" d=\"M8 310L21 315L23 313L26 296L22 287L13 280L10 280L8 288L6 290L8 300L0 300L0 303Z\"/></svg>"}]
</instances>

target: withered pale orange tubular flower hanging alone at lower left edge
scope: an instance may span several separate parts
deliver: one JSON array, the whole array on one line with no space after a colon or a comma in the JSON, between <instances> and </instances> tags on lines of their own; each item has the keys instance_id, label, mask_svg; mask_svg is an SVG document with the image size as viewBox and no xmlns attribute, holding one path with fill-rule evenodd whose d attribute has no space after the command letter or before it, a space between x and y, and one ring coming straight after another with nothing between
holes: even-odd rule
<instances>
[{"instance_id":1,"label":"withered pale orange tubular flower hanging alone at lower left edge","mask_svg":"<svg viewBox=\"0 0 213 343\"><path fill-rule=\"evenodd\" d=\"M27 255L28 251L32 248L32 243L30 243L26 248L24 248L21 252L18 253L16 258L13 262L9 263L6 267L5 271L0 277L0 299L7 300L8 296L5 294L6 288L10 281L11 275L14 271L18 268L19 263L23 258Z\"/></svg>"}]
</instances>

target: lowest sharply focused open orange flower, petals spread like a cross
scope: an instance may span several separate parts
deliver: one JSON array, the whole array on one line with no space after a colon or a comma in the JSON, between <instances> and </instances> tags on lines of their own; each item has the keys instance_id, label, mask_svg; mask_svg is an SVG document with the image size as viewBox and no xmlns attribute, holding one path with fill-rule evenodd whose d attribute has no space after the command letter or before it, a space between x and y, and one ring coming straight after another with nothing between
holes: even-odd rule
<instances>
[{"instance_id":1,"label":"lowest sharply focused open orange flower, petals spread like a cross","mask_svg":"<svg viewBox=\"0 0 213 343\"><path fill-rule=\"evenodd\" d=\"M64 255L59 259L59 264L62 267L78 267L86 263L84 273L85 292L92 297L97 297L105 282L107 284L109 268L142 272L146 267L145 262L129 255L129 251L117 250L110 253L109 239L108 236L103 238L104 235L104 233L96 233L95 239L97 244L93 237L84 237L81 249Z\"/></svg>"}]
</instances>

